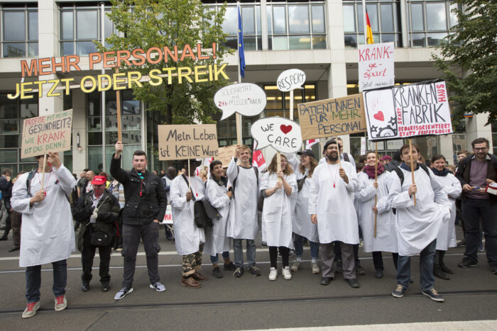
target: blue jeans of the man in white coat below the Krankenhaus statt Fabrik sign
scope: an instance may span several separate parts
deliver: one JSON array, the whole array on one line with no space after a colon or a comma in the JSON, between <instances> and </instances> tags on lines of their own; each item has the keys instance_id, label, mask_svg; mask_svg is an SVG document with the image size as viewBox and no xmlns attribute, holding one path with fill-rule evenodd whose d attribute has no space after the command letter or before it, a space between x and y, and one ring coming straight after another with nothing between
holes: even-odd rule
<instances>
[{"instance_id":1,"label":"blue jeans of the man in white coat below the Krankenhaus statt Fabrik sign","mask_svg":"<svg viewBox=\"0 0 497 331\"><path fill-rule=\"evenodd\" d=\"M420 253L420 283L422 291L433 288L433 262L435 261L435 248L437 240L430 242ZM397 262L397 284L409 288L410 281L410 257L398 256Z\"/></svg>"}]
</instances>

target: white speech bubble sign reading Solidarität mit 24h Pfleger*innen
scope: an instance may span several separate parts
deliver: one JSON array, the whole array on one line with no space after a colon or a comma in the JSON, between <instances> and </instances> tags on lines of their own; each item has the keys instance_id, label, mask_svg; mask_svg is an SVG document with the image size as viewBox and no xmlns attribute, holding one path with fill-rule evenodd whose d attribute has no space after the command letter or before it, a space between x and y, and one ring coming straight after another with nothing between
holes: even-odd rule
<instances>
[{"instance_id":1,"label":"white speech bubble sign reading Solidarit\u00e4t mit 24h Pfleger*innen","mask_svg":"<svg viewBox=\"0 0 497 331\"><path fill-rule=\"evenodd\" d=\"M266 108L266 93L256 84L231 84L214 94L214 103L223 111L221 120L235 112L244 116L256 116Z\"/></svg>"}]
</instances>

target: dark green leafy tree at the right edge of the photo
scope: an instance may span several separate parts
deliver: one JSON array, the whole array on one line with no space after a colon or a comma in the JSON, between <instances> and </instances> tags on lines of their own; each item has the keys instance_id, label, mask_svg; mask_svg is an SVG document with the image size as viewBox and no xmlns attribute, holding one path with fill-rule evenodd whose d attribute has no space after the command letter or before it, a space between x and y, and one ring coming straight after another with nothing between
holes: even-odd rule
<instances>
[{"instance_id":1,"label":"dark green leafy tree at the right edge of the photo","mask_svg":"<svg viewBox=\"0 0 497 331\"><path fill-rule=\"evenodd\" d=\"M459 103L454 118L463 113L488 113L488 124L497 123L497 3L486 0L454 0L457 13L453 33L432 55L444 72L451 101ZM458 6L458 7L460 7Z\"/></svg>"}]
</instances>

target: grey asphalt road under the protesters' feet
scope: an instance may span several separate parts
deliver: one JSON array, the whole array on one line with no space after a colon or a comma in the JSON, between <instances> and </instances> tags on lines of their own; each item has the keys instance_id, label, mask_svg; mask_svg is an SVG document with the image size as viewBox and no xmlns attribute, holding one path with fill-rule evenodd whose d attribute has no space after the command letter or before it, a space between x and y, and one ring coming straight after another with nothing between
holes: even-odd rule
<instances>
[{"instance_id":1,"label":"grey asphalt road under the protesters' feet","mask_svg":"<svg viewBox=\"0 0 497 331\"><path fill-rule=\"evenodd\" d=\"M458 228L458 235L460 235ZM461 269L457 262L464 248L449 249L446 264L454 270L451 280L435 280L435 288L445 298L436 303L422 296L419 264L413 258L413 276L404 298L393 298L395 269L388 254L383 279L374 278L371 254L359 250L365 276L358 276L361 288L350 288L341 275L329 286L321 286L320 275L311 273L310 262L293 274L291 281L278 276L268 281L267 248L258 245L257 261L262 276L244 274L235 279L231 272L224 278L204 281L202 288L181 286L181 259L175 247L161 233L160 277L168 288L157 293L148 288L146 259L141 247L138 256L133 293L114 301L122 281L122 257L111 258L111 291L100 291L98 269L90 291L80 290L80 257L75 252L67 260L68 308L53 310L52 272L50 265L42 271L41 308L33 318L23 320L26 306L23 269L18 267L18 252L9 253L9 241L0 242L0 328L1 330L249 330L283 327L325 327L331 325L376 325L406 322L443 322L496 320L497 276L488 270L486 257L480 254L478 267ZM461 237L461 236L459 236ZM231 254L232 256L232 254ZM305 249L304 259L309 258ZM98 267L95 257L94 266ZM209 257L204 255L204 273L210 275ZM452 325L454 326L454 325ZM497 329L497 322L495 324ZM492 327L490 328L492 329Z\"/></svg>"}]
</instances>

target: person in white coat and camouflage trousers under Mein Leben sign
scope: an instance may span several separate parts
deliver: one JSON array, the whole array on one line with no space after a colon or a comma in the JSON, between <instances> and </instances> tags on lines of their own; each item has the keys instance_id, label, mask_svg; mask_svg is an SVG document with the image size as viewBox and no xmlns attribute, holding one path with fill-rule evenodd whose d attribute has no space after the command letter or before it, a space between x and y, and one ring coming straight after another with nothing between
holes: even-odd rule
<instances>
[{"instance_id":1,"label":"person in white coat and camouflage trousers under Mein Leben sign","mask_svg":"<svg viewBox=\"0 0 497 331\"><path fill-rule=\"evenodd\" d=\"M173 179L170 188L171 208L175 229L175 245L182 259L182 286L200 288L198 281L207 280L200 274L202 269L202 251L204 249L204 229L195 225L194 203L205 196L202 179L195 176L195 168L200 161L190 159L185 161L185 169L190 162L190 174L181 174ZM190 188L188 187L190 184Z\"/></svg>"}]
</instances>

